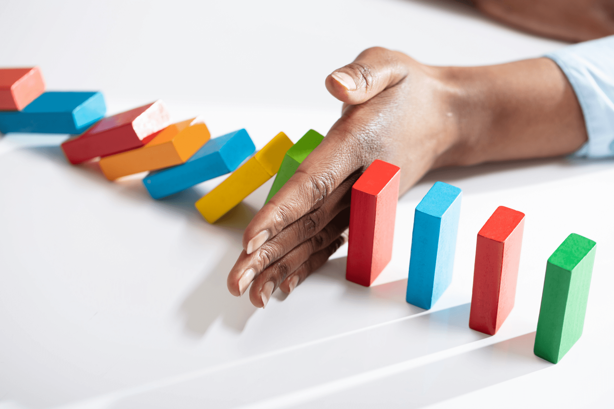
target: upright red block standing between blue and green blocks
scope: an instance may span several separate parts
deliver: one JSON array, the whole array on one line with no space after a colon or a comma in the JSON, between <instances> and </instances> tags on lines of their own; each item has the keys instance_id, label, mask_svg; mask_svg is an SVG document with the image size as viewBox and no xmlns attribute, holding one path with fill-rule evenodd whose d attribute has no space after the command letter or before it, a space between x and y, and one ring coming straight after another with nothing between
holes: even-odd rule
<instances>
[{"instance_id":1,"label":"upright red block standing between blue and green blocks","mask_svg":"<svg viewBox=\"0 0 614 409\"><path fill-rule=\"evenodd\" d=\"M499 206L478 232L469 327L494 335L514 308L524 213Z\"/></svg>"}]
</instances>

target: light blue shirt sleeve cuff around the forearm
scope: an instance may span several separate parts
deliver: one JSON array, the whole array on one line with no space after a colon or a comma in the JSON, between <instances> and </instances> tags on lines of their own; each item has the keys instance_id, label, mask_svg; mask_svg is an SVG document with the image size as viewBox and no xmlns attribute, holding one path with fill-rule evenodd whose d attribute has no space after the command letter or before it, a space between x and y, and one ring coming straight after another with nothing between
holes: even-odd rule
<instances>
[{"instance_id":1,"label":"light blue shirt sleeve cuff around the forearm","mask_svg":"<svg viewBox=\"0 0 614 409\"><path fill-rule=\"evenodd\" d=\"M561 67L584 113L588 142L574 155L614 156L614 36L570 45L545 56Z\"/></svg>"}]
</instances>

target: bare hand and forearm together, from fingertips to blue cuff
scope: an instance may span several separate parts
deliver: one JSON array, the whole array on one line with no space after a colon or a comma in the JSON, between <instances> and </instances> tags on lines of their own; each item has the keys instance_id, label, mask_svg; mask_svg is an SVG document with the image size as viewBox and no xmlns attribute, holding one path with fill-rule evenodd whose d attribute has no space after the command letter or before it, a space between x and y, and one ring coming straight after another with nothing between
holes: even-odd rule
<instances>
[{"instance_id":1,"label":"bare hand and forearm together, from fingertips to blue cuff","mask_svg":"<svg viewBox=\"0 0 614 409\"><path fill-rule=\"evenodd\" d=\"M369 48L326 78L341 118L254 216L228 274L231 294L265 307L345 241L351 187L375 159L401 168L400 194L429 169L564 155L586 141L575 93L548 58L432 67Z\"/></svg>"}]
</instances>

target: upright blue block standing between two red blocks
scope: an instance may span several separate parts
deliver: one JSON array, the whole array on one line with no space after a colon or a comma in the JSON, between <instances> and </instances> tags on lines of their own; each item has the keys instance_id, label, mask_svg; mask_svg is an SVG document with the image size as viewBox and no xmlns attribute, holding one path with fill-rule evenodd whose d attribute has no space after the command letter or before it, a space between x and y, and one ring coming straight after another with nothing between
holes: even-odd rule
<instances>
[{"instance_id":1,"label":"upright blue block standing between two red blocks","mask_svg":"<svg viewBox=\"0 0 614 409\"><path fill-rule=\"evenodd\" d=\"M462 191L437 182L416 206L411 237L408 303L428 310L452 281Z\"/></svg>"}]
</instances>

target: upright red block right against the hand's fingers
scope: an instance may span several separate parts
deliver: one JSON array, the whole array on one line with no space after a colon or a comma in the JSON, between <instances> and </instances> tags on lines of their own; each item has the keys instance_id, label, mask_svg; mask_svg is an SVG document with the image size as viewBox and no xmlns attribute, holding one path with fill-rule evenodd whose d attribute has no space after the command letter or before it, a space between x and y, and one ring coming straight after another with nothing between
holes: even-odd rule
<instances>
[{"instance_id":1,"label":"upright red block right against the hand's fingers","mask_svg":"<svg viewBox=\"0 0 614 409\"><path fill-rule=\"evenodd\" d=\"M370 286L392 258L401 169L374 161L352 186L346 279Z\"/></svg>"}]
</instances>

